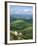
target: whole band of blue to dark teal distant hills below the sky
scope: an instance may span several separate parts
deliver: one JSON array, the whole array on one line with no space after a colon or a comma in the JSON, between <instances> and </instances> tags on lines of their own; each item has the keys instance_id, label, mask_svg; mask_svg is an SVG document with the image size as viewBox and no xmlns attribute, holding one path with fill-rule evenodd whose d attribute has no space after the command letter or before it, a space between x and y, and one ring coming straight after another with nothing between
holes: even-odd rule
<instances>
[{"instance_id":1,"label":"whole band of blue to dark teal distant hills below the sky","mask_svg":"<svg viewBox=\"0 0 37 46\"><path fill-rule=\"evenodd\" d=\"M10 15L10 21L15 21L15 20L25 20L27 22L32 23L32 15L27 15L27 14L23 14L23 15Z\"/></svg>"}]
</instances>

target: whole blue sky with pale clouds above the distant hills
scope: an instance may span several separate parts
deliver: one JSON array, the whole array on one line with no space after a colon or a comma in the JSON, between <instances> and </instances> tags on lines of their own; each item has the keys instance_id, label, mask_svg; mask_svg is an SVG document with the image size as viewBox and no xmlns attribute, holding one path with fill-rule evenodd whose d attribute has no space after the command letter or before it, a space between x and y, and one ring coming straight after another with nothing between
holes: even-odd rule
<instances>
[{"instance_id":1,"label":"whole blue sky with pale clouds above the distant hills","mask_svg":"<svg viewBox=\"0 0 37 46\"><path fill-rule=\"evenodd\" d=\"M12 14L32 14L32 6L10 5L10 13Z\"/></svg>"}]
</instances>

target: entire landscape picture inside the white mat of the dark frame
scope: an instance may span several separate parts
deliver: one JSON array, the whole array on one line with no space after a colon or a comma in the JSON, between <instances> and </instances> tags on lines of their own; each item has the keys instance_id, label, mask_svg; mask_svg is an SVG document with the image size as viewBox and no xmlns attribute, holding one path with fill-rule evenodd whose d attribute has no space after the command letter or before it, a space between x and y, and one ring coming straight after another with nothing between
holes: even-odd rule
<instances>
[{"instance_id":1,"label":"entire landscape picture inside the white mat of the dark frame","mask_svg":"<svg viewBox=\"0 0 37 46\"><path fill-rule=\"evenodd\" d=\"M11 6L10 12L10 40L32 39L32 7Z\"/></svg>"}]
</instances>

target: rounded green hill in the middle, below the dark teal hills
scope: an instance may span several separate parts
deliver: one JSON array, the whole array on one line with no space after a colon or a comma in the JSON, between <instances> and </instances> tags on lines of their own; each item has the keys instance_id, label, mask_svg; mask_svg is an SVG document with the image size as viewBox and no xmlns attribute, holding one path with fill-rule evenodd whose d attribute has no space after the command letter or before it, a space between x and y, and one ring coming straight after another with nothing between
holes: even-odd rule
<instances>
[{"instance_id":1,"label":"rounded green hill in the middle, below the dark teal hills","mask_svg":"<svg viewBox=\"0 0 37 46\"><path fill-rule=\"evenodd\" d=\"M21 30L29 26L31 26L31 24L24 20L16 20L11 23L11 30Z\"/></svg>"}]
</instances>

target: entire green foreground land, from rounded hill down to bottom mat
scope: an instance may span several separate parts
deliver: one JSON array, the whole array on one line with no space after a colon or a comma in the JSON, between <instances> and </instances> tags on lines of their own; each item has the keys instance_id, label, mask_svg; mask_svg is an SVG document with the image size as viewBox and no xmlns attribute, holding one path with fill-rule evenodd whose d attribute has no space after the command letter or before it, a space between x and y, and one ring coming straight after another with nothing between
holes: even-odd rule
<instances>
[{"instance_id":1,"label":"entire green foreground land, from rounded hill down to bottom mat","mask_svg":"<svg viewBox=\"0 0 37 46\"><path fill-rule=\"evenodd\" d=\"M30 20L31 21L31 20ZM32 22L16 19L10 23L10 40L32 39Z\"/></svg>"}]
</instances>

